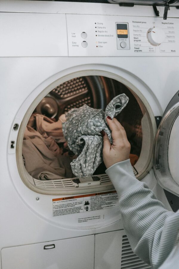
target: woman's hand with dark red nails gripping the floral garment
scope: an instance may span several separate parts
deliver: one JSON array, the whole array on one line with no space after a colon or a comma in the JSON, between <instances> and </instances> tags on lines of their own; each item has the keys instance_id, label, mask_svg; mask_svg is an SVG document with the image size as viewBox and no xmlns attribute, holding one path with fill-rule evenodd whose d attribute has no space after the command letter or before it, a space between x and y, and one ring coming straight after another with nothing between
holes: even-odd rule
<instances>
[{"instance_id":1,"label":"woman's hand with dark red nails gripping the floral garment","mask_svg":"<svg viewBox=\"0 0 179 269\"><path fill-rule=\"evenodd\" d=\"M127 140L124 127L121 125L121 123L118 122L118 120L115 118L111 120L111 118L108 116L107 124L112 131L112 145L104 131L101 132L101 135L103 136L104 141L103 161L106 167L109 168L115 163L129 159L131 146Z\"/></svg>"}]
</instances>

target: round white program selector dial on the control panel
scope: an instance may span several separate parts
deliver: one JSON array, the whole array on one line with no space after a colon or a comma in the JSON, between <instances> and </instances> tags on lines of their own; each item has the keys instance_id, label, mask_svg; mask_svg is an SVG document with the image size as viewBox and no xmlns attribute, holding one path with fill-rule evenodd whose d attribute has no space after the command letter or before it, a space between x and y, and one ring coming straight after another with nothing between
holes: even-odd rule
<instances>
[{"instance_id":1,"label":"round white program selector dial on the control panel","mask_svg":"<svg viewBox=\"0 0 179 269\"><path fill-rule=\"evenodd\" d=\"M160 27L150 28L147 32L147 39L154 46L160 45L165 39L165 32Z\"/></svg>"}]
</instances>

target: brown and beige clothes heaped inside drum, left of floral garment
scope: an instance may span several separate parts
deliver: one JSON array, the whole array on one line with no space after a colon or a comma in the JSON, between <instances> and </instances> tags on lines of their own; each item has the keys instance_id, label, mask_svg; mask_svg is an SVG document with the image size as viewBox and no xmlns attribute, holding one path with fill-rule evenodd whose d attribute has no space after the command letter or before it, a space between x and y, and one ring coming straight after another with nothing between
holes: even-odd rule
<instances>
[{"instance_id":1,"label":"brown and beige clothes heaped inside drum, left of floral garment","mask_svg":"<svg viewBox=\"0 0 179 269\"><path fill-rule=\"evenodd\" d=\"M65 115L58 121L32 114L24 132L22 155L27 172L36 179L74 177L70 163L76 156L70 151L62 132Z\"/></svg>"}]
</instances>

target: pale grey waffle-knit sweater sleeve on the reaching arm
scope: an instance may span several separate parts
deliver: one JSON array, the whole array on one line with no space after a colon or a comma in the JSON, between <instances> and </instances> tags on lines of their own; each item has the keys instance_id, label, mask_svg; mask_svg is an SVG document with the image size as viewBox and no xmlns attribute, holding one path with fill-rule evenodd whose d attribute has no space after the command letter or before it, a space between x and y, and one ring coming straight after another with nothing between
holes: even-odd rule
<instances>
[{"instance_id":1,"label":"pale grey waffle-knit sweater sleeve on the reaching arm","mask_svg":"<svg viewBox=\"0 0 179 269\"><path fill-rule=\"evenodd\" d=\"M132 250L152 268L159 268L174 247L179 211L166 210L148 186L135 178L130 160L115 163L106 173L118 193L122 222Z\"/></svg>"}]
</instances>

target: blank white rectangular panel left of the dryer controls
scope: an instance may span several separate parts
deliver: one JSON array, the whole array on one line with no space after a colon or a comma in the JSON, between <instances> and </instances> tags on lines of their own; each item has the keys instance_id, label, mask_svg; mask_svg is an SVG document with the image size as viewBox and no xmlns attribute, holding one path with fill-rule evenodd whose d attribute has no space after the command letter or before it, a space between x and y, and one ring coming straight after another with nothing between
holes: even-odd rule
<instances>
[{"instance_id":1,"label":"blank white rectangular panel left of the dryer controls","mask_svg":"<svg viewBox=\"0 0 179 269\"><path fill-rule=\"evenodd\" d=\"M5 12L0 25L0 57L68 56L65 14Z\"/></svg>"}]
</instances>

